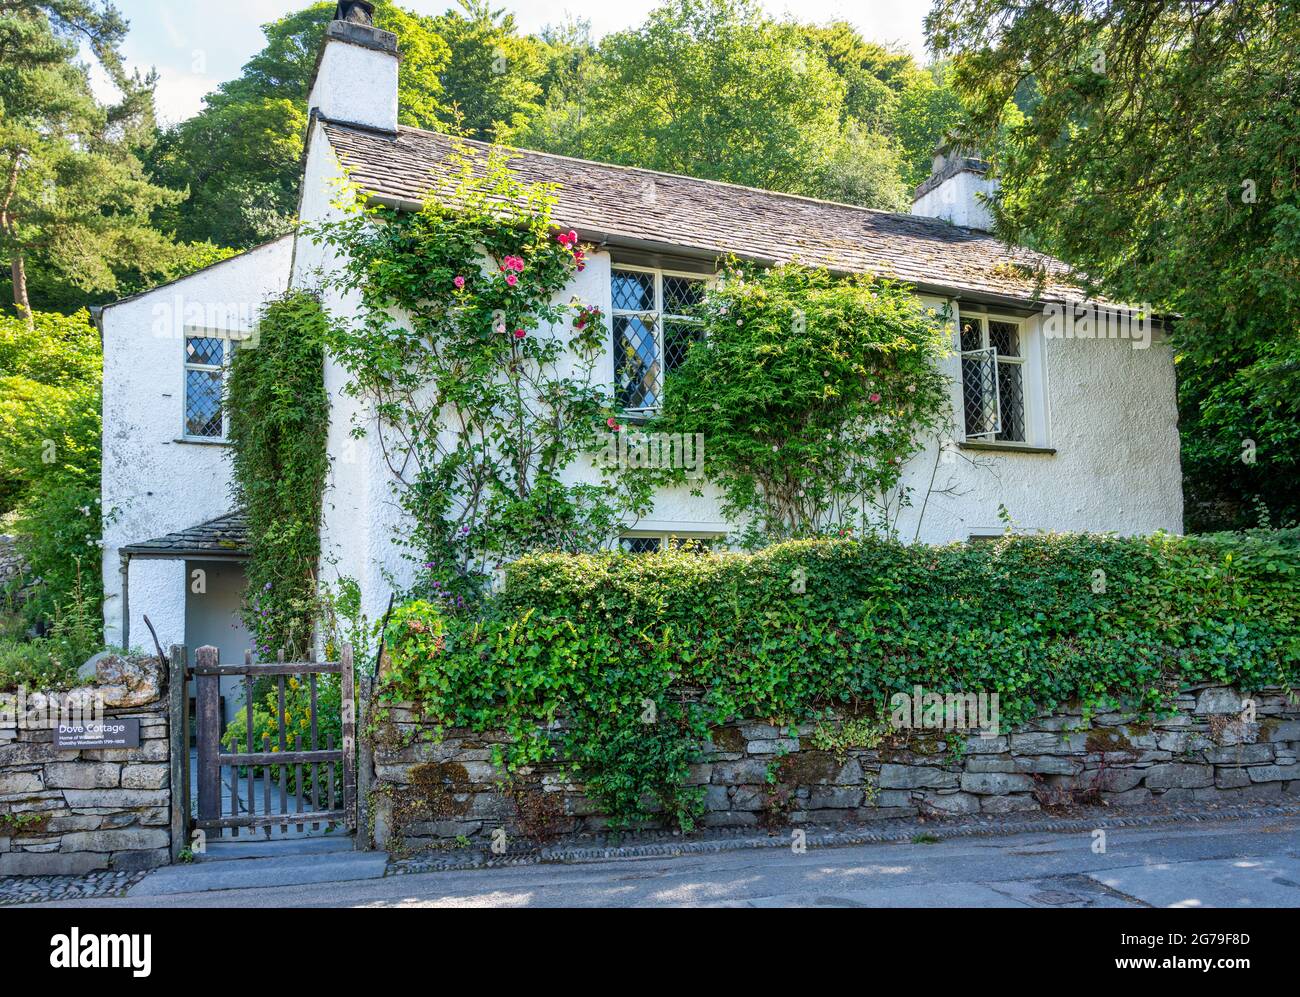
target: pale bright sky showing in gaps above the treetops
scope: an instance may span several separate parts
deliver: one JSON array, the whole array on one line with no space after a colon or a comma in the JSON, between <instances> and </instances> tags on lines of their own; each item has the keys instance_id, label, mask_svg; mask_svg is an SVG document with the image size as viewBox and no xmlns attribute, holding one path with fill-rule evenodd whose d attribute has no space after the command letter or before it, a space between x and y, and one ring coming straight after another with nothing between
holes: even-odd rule
<instances>
[{"instance_id":1,"label":"pale bright sky showing in gaps above the treetops","mask_svg":"<svg viewBox=\"0 0 1300 997\"><path fill-rule=\"evenodd\" d=\"M308 0L114 0L130 21L124 51L127 64L142 73L159 73L157 108L165 123L199 110L203 95L239 75L239 69L263 45L261 25L307 5ZM864 38L894 43L924 57L922 21L930 0L762 0L774 16L801 21L844 19ZM452 0L402 0L402 5L437 14ZM567 17L592 22L597 36L640 25L656 0L497 0L515 14L524 32L540 31ZM96 90L110 91L100 75Z\"/></svg>"}]
</instances>

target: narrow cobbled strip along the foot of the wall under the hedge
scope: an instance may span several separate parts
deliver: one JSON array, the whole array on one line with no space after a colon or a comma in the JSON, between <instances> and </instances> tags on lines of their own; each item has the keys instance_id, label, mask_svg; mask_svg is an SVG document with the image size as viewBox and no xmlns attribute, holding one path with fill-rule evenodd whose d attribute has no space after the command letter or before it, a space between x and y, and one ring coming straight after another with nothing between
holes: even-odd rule
<instances>
[{"instance_id":1,"label":"narrow cobbled strip along the foot of the wall under the hedge","mask_svg":"<svg viewBox=\"0 0 1300 997\"><path fill-rule=\"evenodd\" d=\"M1227 806L1213 811L1124 811L1109 814L1100 807L1089 807L1084 816L1057 816L1044 820L1015 818L974 818L939 820L888 820L874 825L832 828L807 825L809 849L842 848L849 845L884 845L914 841L948 841L963 837L998 837L1034 833L1091 835L1101 828L1148 828L1162 824L1213 824L1230 820L1258 818L1300 818L1300 799L1280 806ZM499 868L504 866L568 864L602 862L606 859L672 858L675 855L710 855L755 848L790 848L790 829L754 835L745 831L706 832L685 837L670 832L644 832L624 836L619 844L595 836L592 841L567 841L547 846L529 846L516 842L506 854L494 855L489 846L477 845L443 851L425 851L410 858L394 858L387 875L404 876L419 872L450 872L473 868Z\"/></svg>"}]
</instances>

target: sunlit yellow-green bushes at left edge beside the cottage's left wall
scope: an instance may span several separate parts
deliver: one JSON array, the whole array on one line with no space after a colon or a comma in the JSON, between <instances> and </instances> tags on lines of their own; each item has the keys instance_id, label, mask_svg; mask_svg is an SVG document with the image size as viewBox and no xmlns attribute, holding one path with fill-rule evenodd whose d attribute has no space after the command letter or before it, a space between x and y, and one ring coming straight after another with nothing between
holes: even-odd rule
<instances>
[{"instance_id":1,"label":"sunlit yellow-green bushes at left edge beside the cottage's left wall","mask_svg":"<svg viewBox=\"0 0 1300 997\"><path fill-rule=\"evenodd\" d=\"M23 607L32 623L83 601L98 611L99 404L99 333L86 312L36 312L30 330L0 316L0 511L16 511L20 550L43 582Z\"/></svg>"}]
</instances>

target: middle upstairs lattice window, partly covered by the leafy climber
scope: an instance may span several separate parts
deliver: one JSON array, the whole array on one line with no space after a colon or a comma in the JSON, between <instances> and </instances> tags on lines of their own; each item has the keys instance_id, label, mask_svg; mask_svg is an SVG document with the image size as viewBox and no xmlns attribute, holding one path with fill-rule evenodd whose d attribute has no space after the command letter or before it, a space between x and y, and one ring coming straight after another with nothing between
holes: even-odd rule
<instances>
[{"instance_id":1,"label":"middle upstairs lattice window, partly covered by the leafy climber","mask_svg":"<svg viewBox=\"0 0 1300 997\"><path fill-rule=\"evenodd\" d=\"M694 317L707 278L615 266L614 390L619 409L650 413L663 403L663 376L686 359L703 324Z\"/></svg>"}]
</instances>

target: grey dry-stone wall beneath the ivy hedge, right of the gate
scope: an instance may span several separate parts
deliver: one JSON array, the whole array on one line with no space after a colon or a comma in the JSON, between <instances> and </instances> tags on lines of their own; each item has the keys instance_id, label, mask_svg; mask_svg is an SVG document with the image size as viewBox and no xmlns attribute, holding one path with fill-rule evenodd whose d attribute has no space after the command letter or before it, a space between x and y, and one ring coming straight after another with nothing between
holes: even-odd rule
<instances>
[{"instance_id":1,"label":"grey dry-stone wall beneath the ivy hedge, right of the gate","mask_svg":"<svg viewBox=\"0 0 1300 997\"><path fill-rule=\"evenodd\" d=\"M1244 699L1205 685L1187 689L1175 707L1166 716L1087 721L1062 710L992 737L909 729L870 747L852 744L838 723L829 725L828 749L826 728L737 721L712 732L690 783L703 790L708 831L996 819L1083 803L1269 806L1300 797L1300 703L1278 690ZM389 707L373 747L377 846L412 853L485 840L499 828L507 838L604 831L582 786L558 766L504 783L490 760L500 741L439 732L410 707Z\"/></svg>"}]
</instances>

